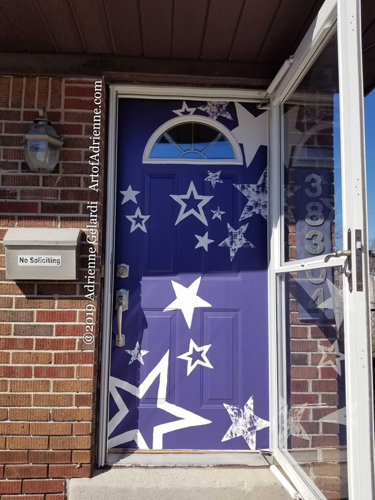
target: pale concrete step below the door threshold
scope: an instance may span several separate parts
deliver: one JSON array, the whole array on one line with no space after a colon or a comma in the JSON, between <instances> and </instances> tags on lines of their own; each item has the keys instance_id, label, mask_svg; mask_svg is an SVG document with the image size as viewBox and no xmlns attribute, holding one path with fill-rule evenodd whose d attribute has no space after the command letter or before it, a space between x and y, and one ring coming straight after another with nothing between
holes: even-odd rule
<instances>
[{"instance_id":1,"label":"pale concrete step below the door threshold","mask_svg":"<svg viewBox=\"0 0 375 500\"><path fill-rule=\"evenodd\" d=\"M113 467L71 479L68 500L290 500L268 468Z\"/></svg>"}]
</instances>

